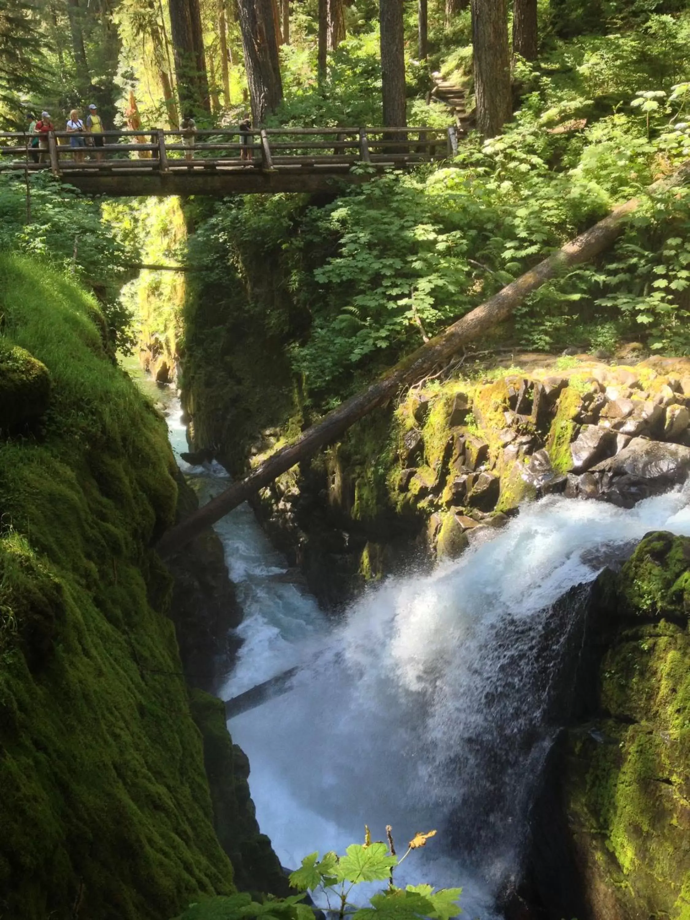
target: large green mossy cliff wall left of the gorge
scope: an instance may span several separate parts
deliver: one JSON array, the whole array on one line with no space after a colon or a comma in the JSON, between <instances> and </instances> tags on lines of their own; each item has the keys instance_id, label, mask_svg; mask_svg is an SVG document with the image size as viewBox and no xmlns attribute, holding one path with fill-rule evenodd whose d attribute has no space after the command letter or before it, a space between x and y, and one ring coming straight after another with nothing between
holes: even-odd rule
<instances>
[{"instance_id":1,"label":"large green mossy cliff wall left of the gorge","mask_svg":"<svg viewBox=\"0 0 690 920\"><path fill-rule=\"evenodd\" d=\"M167 920L234 881L223 714L190 707L148 548L176 513L165 424L62 276L1 257L0 314L0 913Z\"/></svg>"}]
</instances>

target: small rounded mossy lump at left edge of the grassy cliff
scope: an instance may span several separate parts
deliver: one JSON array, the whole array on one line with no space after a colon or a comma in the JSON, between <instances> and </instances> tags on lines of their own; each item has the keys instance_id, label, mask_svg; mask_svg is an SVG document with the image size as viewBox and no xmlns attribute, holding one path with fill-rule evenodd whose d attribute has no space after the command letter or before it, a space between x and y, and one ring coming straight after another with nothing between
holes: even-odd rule
<instances>
[{"instance_id":1,"label":"small rounded mossy lump at left edge of the grassy cliff","mask_svg":"<svg viewBox=\"0 0 690 920\"><path fill-rule=\"evenodd\" d=\"M51 375L26 349L0 338L0 433L40 420L51 399Z\"/></svg>"}]
</instances>

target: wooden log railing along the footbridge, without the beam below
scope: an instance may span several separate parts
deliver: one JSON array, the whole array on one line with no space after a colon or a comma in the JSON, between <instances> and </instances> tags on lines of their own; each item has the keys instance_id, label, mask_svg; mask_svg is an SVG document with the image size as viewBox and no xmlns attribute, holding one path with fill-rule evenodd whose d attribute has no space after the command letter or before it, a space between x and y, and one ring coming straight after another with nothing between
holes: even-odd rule
<instances>
[{"instance_id":1,"label":"wooden log railing along the footbridge, without the beam below","mask_svg":"<svg viewBox=\"0 0 690 920\"><path fill-rule=\"evenodd\" d=\"M180 169L311 168L350 169L358 163L405 165L454 155L454 128L239 128L203 129L193 133L158 128L137 131L51 132L40 138L28 132L0 132L0 170L51 169L74 172L138 170L166 173Z\"/></svg>"}]
</instances>

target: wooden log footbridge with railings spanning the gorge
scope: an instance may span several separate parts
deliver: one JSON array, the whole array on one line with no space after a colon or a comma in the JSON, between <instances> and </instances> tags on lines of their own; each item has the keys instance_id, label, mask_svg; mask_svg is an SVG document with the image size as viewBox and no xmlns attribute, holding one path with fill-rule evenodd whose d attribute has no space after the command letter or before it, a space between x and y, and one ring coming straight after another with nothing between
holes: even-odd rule
<instances>
[{"instance_id":1,"label":"wooden log footbridge with railings spanning the gorge","mask_svg":"<svg viewBox=\"0 0 690 920\"><path fill-rule=\"evenodd\" d=\"M50 170L92 195L229 195L325 191L457 151L455 128L147 129L84 134L0 133L0 172ZM96 145L98 144L98 145Z\"/></svg>"}]
</instances>

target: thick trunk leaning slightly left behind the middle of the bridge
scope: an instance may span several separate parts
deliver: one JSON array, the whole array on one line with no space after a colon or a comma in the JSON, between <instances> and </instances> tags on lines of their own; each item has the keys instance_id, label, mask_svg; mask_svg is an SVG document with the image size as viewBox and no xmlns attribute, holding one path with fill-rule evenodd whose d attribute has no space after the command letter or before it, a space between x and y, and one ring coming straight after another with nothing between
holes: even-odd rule
<instances>
[{"instance_id":1,"label":"thick trunk leaning slightly left behind the middle of the bridge","mask_svg":"<svg viewBox=\"0 0 690 920\"><path fill-rule=\"evenodd\" d=\"M282 99L281 63L273 25L273 2L238 0L237 7L252 119L257 126L267 112L278 108Z\"/></svg>"}]
</instances>

